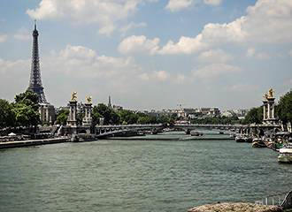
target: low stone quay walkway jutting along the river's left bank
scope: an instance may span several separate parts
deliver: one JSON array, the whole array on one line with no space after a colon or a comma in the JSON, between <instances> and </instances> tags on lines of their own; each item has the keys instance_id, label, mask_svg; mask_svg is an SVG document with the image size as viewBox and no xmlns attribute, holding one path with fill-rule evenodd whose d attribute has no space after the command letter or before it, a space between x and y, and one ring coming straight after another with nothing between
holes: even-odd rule
<instances>
[{"instance_id":1,"label":"low stone quay walkway jutting along the river's left bank","mask_svg":"<svg viewBox=\"0 0 292 212\"><path fill-rule=\"evenodd\" d=\"M1 148L23 148L30 146L38 146L45 144L55 144L55 143L65 143L71 141L69 137L63 136L52 139L42 139L42 140L18 140L18 141L6 141L0 142Z\"/></svg>"}]
</instances>

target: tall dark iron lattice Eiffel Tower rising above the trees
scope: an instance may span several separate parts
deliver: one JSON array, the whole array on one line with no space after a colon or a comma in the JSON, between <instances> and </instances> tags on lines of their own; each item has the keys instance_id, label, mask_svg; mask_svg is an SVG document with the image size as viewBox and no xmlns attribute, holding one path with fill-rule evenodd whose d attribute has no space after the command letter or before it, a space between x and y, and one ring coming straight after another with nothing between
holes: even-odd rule
<instances>
[{"instance_id":1,"label":"tall dark iron lattice Eiffel Tower rising above the trees","mask_svg":"<svg viewBox=\"0 0 292 212\"><path fill-rule=\"evenodd\" d=\"M48 103L43 93L41 70L40 70L40 57L39 57L39 44L38 44L39 33L36 30L33 32L33 55L32 55L32 66L30 72L29 86L27 90L34 91L38 96L39 103Z\"/></svg>"}]
</instances>

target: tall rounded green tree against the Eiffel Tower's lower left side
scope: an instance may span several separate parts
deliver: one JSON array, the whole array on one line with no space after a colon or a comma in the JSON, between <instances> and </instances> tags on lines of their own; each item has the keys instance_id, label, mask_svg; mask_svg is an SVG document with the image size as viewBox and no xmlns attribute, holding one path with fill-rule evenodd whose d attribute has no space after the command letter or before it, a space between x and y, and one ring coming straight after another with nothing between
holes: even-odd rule
<instances>
[{"instance_id":1,"label":"tall rounded green tree against the Eiffel Tower's lower left side","mask_svg":"<svg viewBox=\"0 0 292 212\"><path fill-rule=\"evenodd\" d=\"M40 123L40 114L38 111L38 97L32 91L15 96L15 103L12 111L15 114L16 125L37 125Z\"/></svg>"}]
</instances>

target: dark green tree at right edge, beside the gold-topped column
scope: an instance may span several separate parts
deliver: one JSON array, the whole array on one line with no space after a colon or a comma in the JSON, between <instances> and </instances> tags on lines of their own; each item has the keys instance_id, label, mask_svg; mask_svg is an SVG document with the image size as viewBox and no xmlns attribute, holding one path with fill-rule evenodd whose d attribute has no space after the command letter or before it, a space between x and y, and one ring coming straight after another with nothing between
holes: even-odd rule
<instances>
[{"instance_id":1,"label":"dark green tree at right edge, beside the gold-topped column","mask_svg":"<svg viewBox=\"0 0 292 212\"><path fill-rule=\"evenodd\" d=\"M276 113L284 124L288 122L292 123L292 91L280 97L280 101L276 107Z\"/></svg>"}]
</instances>

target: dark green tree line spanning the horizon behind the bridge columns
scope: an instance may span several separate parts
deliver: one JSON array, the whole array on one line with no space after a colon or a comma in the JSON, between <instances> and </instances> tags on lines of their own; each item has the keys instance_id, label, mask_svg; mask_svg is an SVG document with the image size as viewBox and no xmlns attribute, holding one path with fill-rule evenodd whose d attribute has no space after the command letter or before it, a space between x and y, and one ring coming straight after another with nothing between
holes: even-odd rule
<instances>
[{"instance_id":1,"label":"dark green tree line spanning the horizon behind the bridge columns","mask_svg":"<svg viewBox=\"0 0 292 212\"><path fill-rule=\"evenodd\" d=\"M38 111L38 97L32 91L16 95L14 102L0 99L0 127L14 126L34 126L42 124ZM57 124L65 125L69 110L60 110L57 114ZM292 123L292 91L280 97L280 101L275 105L275 116L285 125ZM77 122L81 125L84 113L77 114ZM133 124L168 124L173 125L180 120L176 114L165 114L153 116L132 110L113 110L104 103L99 103L93 107L93 125L133 125ZM263 106L252 108L243 120L238 117L204 117L192 120L192 124L261 124L263 121Z\"/></svg>"}]
</instances>

